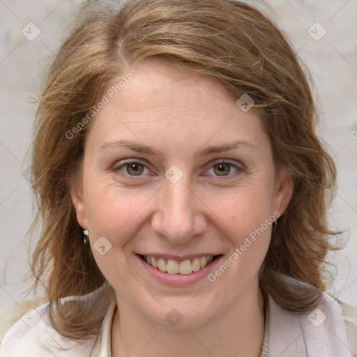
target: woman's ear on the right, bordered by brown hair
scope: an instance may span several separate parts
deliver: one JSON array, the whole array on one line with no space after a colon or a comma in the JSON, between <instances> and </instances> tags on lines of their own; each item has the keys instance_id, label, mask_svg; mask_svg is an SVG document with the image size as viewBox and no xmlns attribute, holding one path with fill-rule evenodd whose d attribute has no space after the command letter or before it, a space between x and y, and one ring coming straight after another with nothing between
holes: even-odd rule
<instances>
[{"instance_id":1,"label":"woman's ear on the right, bordered by brown hair","mask_svg":"<svg viewBox=\"0 0 357 357\"><path fill-rule=\"evenodd\" d=\"M278 171L278 176L275 183L275 191L273 197L273 209L278 211L280 215L287 208L294 191L294 180L285 167Z\"/></svg>"}]
</instances>

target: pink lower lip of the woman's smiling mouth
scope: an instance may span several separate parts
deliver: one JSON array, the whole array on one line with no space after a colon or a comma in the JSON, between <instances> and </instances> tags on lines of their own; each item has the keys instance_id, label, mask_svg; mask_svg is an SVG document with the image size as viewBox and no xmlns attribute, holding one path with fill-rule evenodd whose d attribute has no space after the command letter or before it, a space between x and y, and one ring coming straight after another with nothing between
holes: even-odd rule
<instances>
[{"instance_id":1,"label":"pink lower lip of the woman's smiling mouth","mask_svg":"<svg viewBox=\"0 0 357 357\"><path fill-rule=\"evenodd\" d=\"M162 284L171 285L174 287L192 285L196 282L199 282L199 280L203 280L211 271L213 271L213 268L218 264L222 257L222 255L216 257L213 261L210 261L206 266L204 266L204 268L199 269L199 271L192 271L190 274L169 274L154 268L137 255L137 259L139 259L146 271L149 271L149 273L151 273L151 275L153 275L156 280Z\"/></svg>"}]
</instances>

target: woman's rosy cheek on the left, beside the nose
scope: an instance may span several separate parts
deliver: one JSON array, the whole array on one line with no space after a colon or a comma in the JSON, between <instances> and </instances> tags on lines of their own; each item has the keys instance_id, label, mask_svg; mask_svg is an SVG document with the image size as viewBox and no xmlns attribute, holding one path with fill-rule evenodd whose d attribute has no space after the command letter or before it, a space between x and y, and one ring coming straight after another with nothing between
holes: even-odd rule
<instances>
[{"instance_id":1,"label":"woman's rosy cheek on the left, beside the nose","mask_svg":"<svg viewBox=\"0 0 357 357\"><path fill-rule=\"evenodd\" d=\"M120 291L119 282L121 286L132 284L132 274L124 268L130 265L130 255L126 252L130 244L127 243L146 222L146 205L155 191L128 190L103 181L92 181L87 190L86 210L93 256L105 278ZM102 237L107 240L104 245L110 247L104 255L96 248Z\"/></svg>"}]
</instances>

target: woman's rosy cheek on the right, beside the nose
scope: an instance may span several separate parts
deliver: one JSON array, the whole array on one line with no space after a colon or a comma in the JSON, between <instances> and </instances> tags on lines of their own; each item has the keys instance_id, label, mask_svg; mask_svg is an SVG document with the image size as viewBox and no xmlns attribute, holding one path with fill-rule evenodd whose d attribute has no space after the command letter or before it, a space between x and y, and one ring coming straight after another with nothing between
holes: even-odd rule
<instances>
[{"instance_id":1,"label":"woman's rosy cheek on the right, beside the nose","mask_svg":"<svg viewBox=\"0 0 357 357\"><path fill-rule=\"evenodd\" d=\"M259 180L241 185L225 195L211 195L206 202L217 215L216 227L230 241L226 264L239 281L257 273L271 241L273 220L271 190ZM237 280L237 281L238 281Z\"/></svg>"}]
</instances>

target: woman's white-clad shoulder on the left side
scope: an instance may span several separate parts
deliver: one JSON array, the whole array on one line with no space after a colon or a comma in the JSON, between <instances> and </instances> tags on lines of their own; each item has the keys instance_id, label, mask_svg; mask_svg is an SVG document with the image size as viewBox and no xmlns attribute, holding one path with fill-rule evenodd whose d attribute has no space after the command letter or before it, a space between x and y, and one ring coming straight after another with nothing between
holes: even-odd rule
<instances>
[{"instance_id":1,"label":"woman's white-clad shoulder on the left side","mask_svg":"<svg viewBox=\"0 0 357 357\"><path fill-rule=\"evenodd\" d=\"M49 352L56 357L90 355L95 338L81 344L65 339L50 326L48 306L44 303L33 308L33 301L26 301L1 308L0 321L6 321L6 333L2 331L0 336L0 357L45 357Z\"/></svg>"}]
</instances>

